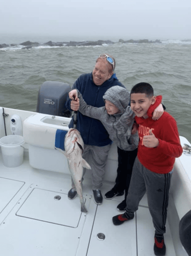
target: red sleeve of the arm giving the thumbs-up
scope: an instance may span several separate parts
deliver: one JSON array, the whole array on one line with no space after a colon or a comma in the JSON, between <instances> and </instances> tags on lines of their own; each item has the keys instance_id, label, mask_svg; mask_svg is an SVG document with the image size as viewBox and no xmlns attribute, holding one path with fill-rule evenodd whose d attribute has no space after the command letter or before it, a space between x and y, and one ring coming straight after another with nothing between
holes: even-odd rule
<instances>
[{"instance_id":1,"label":"red sleeve of the arm giving the thumbs-up","mask_svg":"<svg viewBox=\"0 0 191 256\"><path fill-rule=\"evenodd\" d=\"M157 138L159 141L157 147L160 148L165 155L180 157L183 149L180 144L176 120L169 113L164 112L159 125L161 125L161 136Z\"/></svg>"}]
</instances>

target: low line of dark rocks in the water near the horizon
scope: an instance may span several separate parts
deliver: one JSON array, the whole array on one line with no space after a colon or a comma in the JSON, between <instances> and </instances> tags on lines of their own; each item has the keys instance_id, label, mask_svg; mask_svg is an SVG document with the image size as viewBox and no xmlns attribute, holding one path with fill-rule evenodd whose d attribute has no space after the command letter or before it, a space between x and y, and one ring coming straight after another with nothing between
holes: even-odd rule
<instances>
[{"instance_id":1,"label":"low line of dark rocks in the water near the horizon","mask_svg":"<svg viewBox=\"0 0 191 256\"><path fill-rule=\"evenodd\" d=\"M150 41L148 39L140 39L140 40L123 40L120 39L118 40L118 43L121 44L150 44L150 43L159 43L161 44L160 40L155 40L155 41ZM25 41L25 42L21 42L21 44L19 44L20 46L24 46L21 49L31 49L33 47L37 47L37 46L51 46L51 47L69 47L69 46L102 46L104 44L107 45L113 45L116 44L116 42L113 42L111 40L98 40L98 41L69 41L69 42L52 42L52 41L48 41L45 42L44 44L39 44L38 42L31 42L31 41ZM11 45L7 45L7 44L0 44L0 48L7 48L10 46L16 46L16 44L11 44Z\"/></svg>"}]
</instances>

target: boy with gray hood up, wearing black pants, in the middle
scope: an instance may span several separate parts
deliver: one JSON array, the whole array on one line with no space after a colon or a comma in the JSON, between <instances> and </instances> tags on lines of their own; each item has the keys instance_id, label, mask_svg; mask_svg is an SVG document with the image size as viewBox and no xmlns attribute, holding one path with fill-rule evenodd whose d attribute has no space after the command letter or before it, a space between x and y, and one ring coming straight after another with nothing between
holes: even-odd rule
<instances>
[{"instance_id":1,"label":"boy with gray hood up, wearing black pants, in the middle","mask_svg":"<svg viewBox=\"0 0 191 256\"><path fill-rule=\"evenodd\" d=\"M80 103L79 111L83 115L99 119L105 126L109 138L117 145L117 177L114 187L105 194L105 198L112 199L115 196L122 196L125 190L125 200L117 206L119 211L125 211L126 197L139 141L138 133L132 133L135 114L129 106L129 92L120 86L111 87L103 96L105 106L101 108L87 105L81 93L76 89L69 92L69 98ZM154 109L157 106L155 105ZM162 105L159 112L160 117L163 113Z\"/></svg>"}]
</instances>

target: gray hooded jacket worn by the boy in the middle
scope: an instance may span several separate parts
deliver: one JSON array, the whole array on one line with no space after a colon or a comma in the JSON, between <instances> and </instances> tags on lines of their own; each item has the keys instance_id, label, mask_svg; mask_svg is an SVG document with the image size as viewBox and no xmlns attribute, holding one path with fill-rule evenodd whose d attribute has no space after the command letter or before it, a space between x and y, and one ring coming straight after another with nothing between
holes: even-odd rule
<instances>
[{"instance_id":1,"label":"gray hooded jacket worn by the boy in the middle","mask_svg":"<svg viewBox=\"0 0 191 256\"><path fill-rule=\"evenodd\" d=\"M83 100L81 93L78 91L78 98L80 100L79 111L86 116L99 119L109 134L109 138L125 151L133 151L138 146L138 133L131 134L134 123L134 112L131 110L129 104L130 95L125 88L120 86L113 86L108 89L104 96L104 100L111 101L120 112L114 115L107 114L105 106L96 108L87 105Z\"/></svg>"}]
</instances>

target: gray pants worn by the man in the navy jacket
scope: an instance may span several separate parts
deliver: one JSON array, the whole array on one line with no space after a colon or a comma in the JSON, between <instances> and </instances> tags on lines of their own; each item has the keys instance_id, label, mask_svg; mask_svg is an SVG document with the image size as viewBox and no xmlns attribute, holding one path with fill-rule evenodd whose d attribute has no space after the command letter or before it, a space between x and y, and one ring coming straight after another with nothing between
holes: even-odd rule
<instances>
[{"instance_id":1,"label":"gray pants worn by the man in the navy jacket","mask_svg":"<svg viewBox=\"0 0 191 256\"><path fill-rule=\"evenodd\" d=\"M84 152L82 157L91 166L91 182L92 189L100 189L105 175L105 166L107 161L107 156L110 150L111 144L106 146L91 146L84 145ZM84 168L83 176L85 175L86 168ZM83 181L83 179L82 179ZM72 187L75 187L72 180Z\"/></svg>"}]
</instances>

